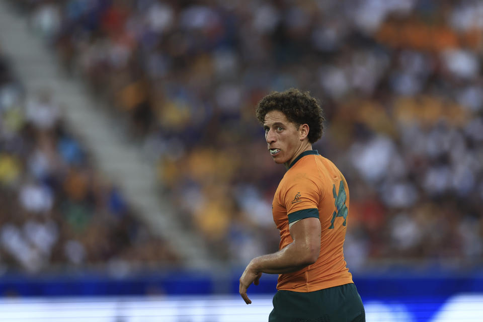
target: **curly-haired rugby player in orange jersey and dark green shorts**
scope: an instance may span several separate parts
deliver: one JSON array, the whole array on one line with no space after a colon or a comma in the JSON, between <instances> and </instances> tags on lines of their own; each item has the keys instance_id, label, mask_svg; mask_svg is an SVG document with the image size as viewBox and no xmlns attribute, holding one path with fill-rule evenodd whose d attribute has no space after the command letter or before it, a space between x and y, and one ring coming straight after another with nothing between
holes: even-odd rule
<instances>
[{"instance_id":1,"label":"curly-haired rugby player in orange jersey and dark green shorts","mask_svg":"<svg viewBox=\"0 0 483 322\"><path fill-rule=\"evenodd\" d=\"M296 89L264 97L257 118L268 150L287 172L272 204L279 251L254 258L240 277L239 293L262 273L279 274L269 322L365 321L364 306L346 267L343 244L349 210L346 180L312 150L324 117L316 99Z\"/></svg>"}]
</instances>

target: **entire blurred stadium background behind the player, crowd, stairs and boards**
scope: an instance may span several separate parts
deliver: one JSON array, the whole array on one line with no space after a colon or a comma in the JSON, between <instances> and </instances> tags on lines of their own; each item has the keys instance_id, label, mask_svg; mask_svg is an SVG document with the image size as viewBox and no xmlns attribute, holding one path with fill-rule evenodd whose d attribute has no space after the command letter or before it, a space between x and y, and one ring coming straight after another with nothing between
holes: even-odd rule
<instances>
[{"instance_id":1,"label":"entire blurred stadium background behind the player, crowd, stairs and boards","mask_svg":"<svg viewBox=\"0 0 483 322\"><path fill-rule=\"evenodd\" d=\"M482 65L478 0L0 1L0 314L265 321L276 276L236 295L279 241L255 107L295 87L367 320L481 320Z\"/></svg>"}]
</instances>

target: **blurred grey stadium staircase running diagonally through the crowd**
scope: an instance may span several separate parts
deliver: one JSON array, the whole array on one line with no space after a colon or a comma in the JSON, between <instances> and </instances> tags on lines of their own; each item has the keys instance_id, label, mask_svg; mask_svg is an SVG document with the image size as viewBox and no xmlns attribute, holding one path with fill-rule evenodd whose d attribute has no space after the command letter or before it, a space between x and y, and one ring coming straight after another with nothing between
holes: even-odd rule
<instances>
[{"instance_id":1,"label":"blurred grey stadium staircase running diagonally through the crowd","mask_svg":"<svg viewBox=\"0 0 483 322\"><path fill-rule=\"evenodd\" d=\"M141 147L126 137L119 123L108 116L108 109L88 93L81 80L62 72L45 41L29 29L27 17L2 0L0 46L27 92L52 91L69 128L90 149L100 170L121 188L140 219L155 234L168 240L185 266L193 269L212 266L214 259L201 238L183 228L170 202L159 192L154 165Z\"/></svg>"}]
</instances>

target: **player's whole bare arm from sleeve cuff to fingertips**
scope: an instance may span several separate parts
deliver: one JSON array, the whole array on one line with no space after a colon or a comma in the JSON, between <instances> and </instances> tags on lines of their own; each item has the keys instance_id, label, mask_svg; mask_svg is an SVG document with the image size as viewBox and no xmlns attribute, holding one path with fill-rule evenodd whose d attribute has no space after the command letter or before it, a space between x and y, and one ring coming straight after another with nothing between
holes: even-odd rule
<instances>
[{"instance_id":1,"label":"player's whole bare arm from sleeve cuff to fingertips","mask_svg":"<svg viewBox=\"0 0 483 322\"><path fill-rule=\"evenodd\" d=\"M296 272L315 263L320 252L320 221L310 217L299 220L290 227L292 243L280 251L254 258L240 277L239 293L247 304L248 287L258 285L262 273L284 274Z\"/></svg>"}]
</instances>

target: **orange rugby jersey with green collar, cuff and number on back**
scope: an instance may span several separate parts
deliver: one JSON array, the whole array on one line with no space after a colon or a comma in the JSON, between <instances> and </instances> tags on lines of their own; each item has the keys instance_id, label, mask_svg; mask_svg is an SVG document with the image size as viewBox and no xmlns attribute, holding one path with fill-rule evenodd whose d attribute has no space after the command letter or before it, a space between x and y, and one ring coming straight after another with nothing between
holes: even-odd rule
<instances>
[{"instance_id":1,"label":"orange rugby jersey with green collar, cuff and number on back","mask_svg":"<svg viewBox=\"0 0 483 322\"><path fill-rule=\"evenodd\" d=\"M273 199L273 220L280 230L280 246L292 243L289 223L308 217L320 220L320 253L315 263L280 274L277 289L312 292L352 283L343 245L349 211L344 176L317 150L302 152L283 176Z\"/></svg>"}]
</instances>

